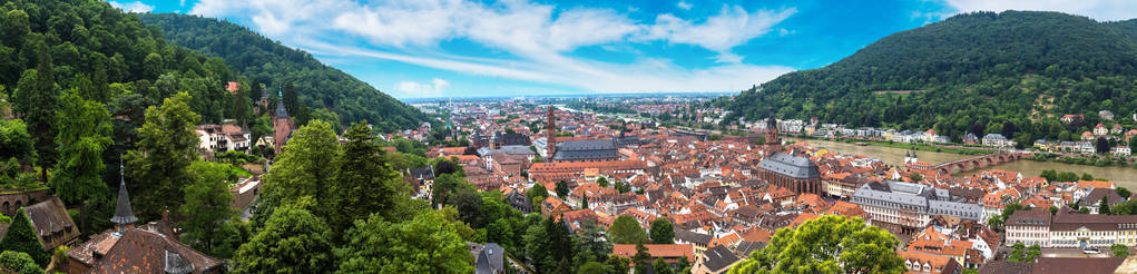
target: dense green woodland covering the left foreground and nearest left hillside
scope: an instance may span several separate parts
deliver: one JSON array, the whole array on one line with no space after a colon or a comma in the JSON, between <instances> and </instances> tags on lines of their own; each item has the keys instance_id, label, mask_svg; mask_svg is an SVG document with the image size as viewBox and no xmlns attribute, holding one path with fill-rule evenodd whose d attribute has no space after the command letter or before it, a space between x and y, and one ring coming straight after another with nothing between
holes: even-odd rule
<instances>
[{"instance_id":1,"label":"dense green woodland covering the left foreground and nearest left hillside","mask_svg":"<svg viewBox=\"0 0 1137 274\"><path fill-rule=\"evenodd\" d=\"M140 224L168 217L175 239L231 261L234 273L473 271L463 240L485 242L484 227L457 219L450 205L458 200L434 210L410 199L398 171L425 159L384 152L373 128L351 123L341 143L334 121L298 123L246 221L230 192L246 171L222 159L265 160L229 153L235 151L218 161L201 157L194 128L265 127L267 116L254 118L247 96L256 93L256 81L218 57L167 43L158 27L102 0L8 1L0 6L0 189L50 190L80 225L78 241L107 231L116 201L126 198L126 214ZM229 92L223 86L231 81L248 88ZM282 93L272 103L294 103L288 84ZM451 182L473 188L460 176ZM116 197L121 188L130 194ZM462 204L462 213L481 211L482 198L474 201ZM0 215L0 224L9 227L0 239L0 273L43 273L67 259L66 247L45 250L23 208Z\"/></svg>"}]
</instances>

